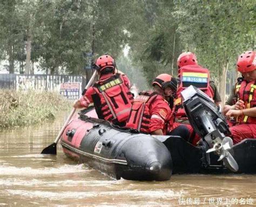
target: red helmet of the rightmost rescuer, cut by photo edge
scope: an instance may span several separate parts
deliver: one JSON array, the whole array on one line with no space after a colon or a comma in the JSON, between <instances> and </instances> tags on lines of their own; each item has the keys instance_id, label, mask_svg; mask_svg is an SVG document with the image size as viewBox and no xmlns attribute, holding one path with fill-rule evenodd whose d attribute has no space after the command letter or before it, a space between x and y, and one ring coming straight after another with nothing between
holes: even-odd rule
<instances>
[{"instance_id":1,"label":"red helmet of the rightmost rescuer, cut by photo edge","mask_svg":"<svg viewBox=\"0 0 256 207\"><path fill-rule=\"evenodd\" d=\"M256 58L254 51L242 53L237 60L237 70L241 73L251 72L256 69Z\"/></svg>"}]
</instances>

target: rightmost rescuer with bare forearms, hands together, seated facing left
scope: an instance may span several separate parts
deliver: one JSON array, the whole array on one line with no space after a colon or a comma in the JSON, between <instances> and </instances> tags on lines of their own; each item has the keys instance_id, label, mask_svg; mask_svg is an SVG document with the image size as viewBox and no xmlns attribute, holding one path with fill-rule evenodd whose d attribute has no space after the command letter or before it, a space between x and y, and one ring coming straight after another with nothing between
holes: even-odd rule
<instances>
[{"instance_id":1,"label":"rightmost rescuer with bare forearms, hands together, seated facing left","mask_svg":"<svg viewBox=\"0 0 256 207\"><path fill-rule=\"evenodd\" d=\"M234 144L256 138L256 56L255 51L242 53L237 61L242 74L224 106L227 119L235 118L230 131ZM230 122L231 123L231 122Z\"/></svg>"}]
</instances>

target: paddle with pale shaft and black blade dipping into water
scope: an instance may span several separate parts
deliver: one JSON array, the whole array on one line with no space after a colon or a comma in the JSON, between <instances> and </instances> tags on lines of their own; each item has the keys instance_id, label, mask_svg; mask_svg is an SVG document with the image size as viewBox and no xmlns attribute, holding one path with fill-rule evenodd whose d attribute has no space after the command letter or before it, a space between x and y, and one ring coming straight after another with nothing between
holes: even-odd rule
<instances>
[{"instance_id":1,"label":"paddle with pale shaft and black blade dipping into water","mask_svg":"<svg viewBox=\"0 0 256 207\"><path fill-rule=\"evenodd\" d=\"M92 74L92 77L91 77L90 81L87 83L85 89L88 89L92 85L93 81L95 80L96 74L97 74L97 72L95 70L95 72ZM59 134L58 134L57 138L55 139L55 141L51 145L49 145L48 147L45 147L43 149L43 151L41 152L41 154L57 154L57 147L56 147L57 143L58 143L58 141L59 141L60 137L62 136L66 126L70 122L70 120L73 117L75 112L76 112L76 109L73 108L69 117L68 117L68 119L66 119L66 122L63 125L62 129L59 131Z\"/></svg>"}]
</instances>

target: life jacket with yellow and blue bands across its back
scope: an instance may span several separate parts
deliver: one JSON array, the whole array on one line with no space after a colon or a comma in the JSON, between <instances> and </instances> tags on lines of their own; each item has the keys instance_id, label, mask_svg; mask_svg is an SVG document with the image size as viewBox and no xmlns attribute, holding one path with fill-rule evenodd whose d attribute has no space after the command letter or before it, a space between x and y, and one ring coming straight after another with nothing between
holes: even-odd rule
<instances>
[{"instance_id":1,"label":"life jacket with yellow and blue bands across its back","mask_svg":"<svg viewBox=\"0 0 256 207\"><path fill-rule=\"evenodd\" d=\"M188 65L180 68L180 78L178 78L178 90L174 105L177 119L187 119L185 110L181 102L181 91L193 85L205 92L210 98L213 98L214 92L210 87L210 73L207 68L198 65Z\"/></svg>"}]
</instances>

